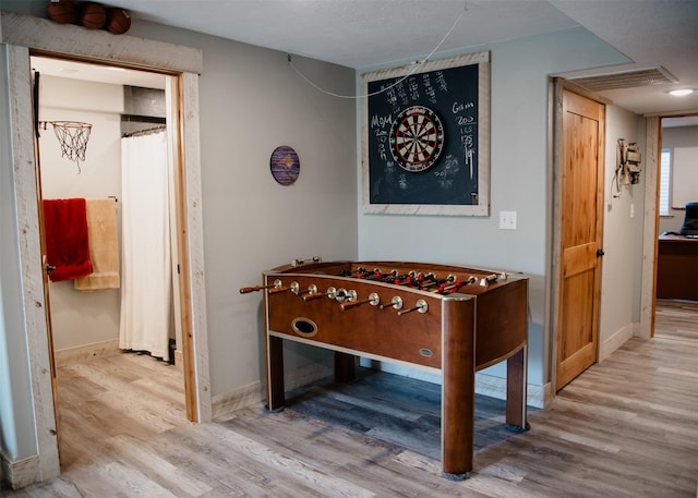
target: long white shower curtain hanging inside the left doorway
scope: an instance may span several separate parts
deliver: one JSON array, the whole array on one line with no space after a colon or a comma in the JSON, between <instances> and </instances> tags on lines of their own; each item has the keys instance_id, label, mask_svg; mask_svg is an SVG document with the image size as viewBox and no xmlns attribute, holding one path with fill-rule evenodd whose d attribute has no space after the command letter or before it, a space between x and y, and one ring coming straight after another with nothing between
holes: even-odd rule
<instances>
[{"instance_id":1,"label":"long white shower curtain hanging inside the left doorway","mask_svg":"<svg viewBox=\"0 0 698 498\"><path fill-rule=\"evenodd\" d=\"M119 348L169 361L172 269L166 132L121 139Z\"/></svg>"}]
</instances>

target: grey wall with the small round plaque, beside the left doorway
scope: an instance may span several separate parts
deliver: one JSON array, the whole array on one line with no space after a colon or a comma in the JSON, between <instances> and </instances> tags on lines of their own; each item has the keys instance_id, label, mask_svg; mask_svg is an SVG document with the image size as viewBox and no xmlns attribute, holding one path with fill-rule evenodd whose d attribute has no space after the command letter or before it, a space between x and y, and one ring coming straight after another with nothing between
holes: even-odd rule
<instances>
[{"instance_id":1,"label":"grey wall with the small round plaque, beside the left doorway","mask_svg":"<svg viewBox=\"0 0 698 498\"><path fill-rule=\"evenodd\" d=\"M206 304L212 394L263 382L262 272L297 257L357 256L354 102L321 94L284 52L134 23L130 35L197 47ZM321 87L353 94L354 72L294 58ZM272 153L289 145L301 169L290 186L269 172ZM289 344L289 369L327 361Z\"/></svg>"}]
</instances>

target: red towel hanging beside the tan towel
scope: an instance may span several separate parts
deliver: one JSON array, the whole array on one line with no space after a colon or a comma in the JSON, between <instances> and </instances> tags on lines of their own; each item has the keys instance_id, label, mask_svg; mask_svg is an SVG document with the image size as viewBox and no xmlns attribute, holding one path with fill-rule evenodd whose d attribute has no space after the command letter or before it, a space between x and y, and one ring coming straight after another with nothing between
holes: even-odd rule
<instances>
[{"instance_id":1,"label":"red towel hanging beside the tan towel","mask_svg":"<svg viewBox=\"0 0 698 498\"><path fill-rule=\"evenodd\" d=\"M46 263L52 282L92 274L89 238L84 198L44 201Z\"/></svg>"}]
</instances>

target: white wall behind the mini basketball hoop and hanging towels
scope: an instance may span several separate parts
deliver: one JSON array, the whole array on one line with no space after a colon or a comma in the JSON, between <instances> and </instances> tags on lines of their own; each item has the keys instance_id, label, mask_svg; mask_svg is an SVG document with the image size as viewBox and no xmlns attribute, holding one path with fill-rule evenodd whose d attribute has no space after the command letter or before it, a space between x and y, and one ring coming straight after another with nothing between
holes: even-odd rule
<instances>
[{"instance_id":1,"label":"white wall behind the mini basketball hoop and hanging towels","mask_svg":"<svg viewBox=\"0 0 698 498\"><path fill-rule=\"evenodd\" d=\"M41 75L41 121L81 121L93 124L85 160L62 157L49 124L39 139L41 192L46 199L110 195L121 197L121 85ZM80 171L80 172L79 172ZM119 207L119 206L117 206ZM117 209L117 226L121 210ZM82 292L73 280L50 282L51 326L56 351L118 339L120 291Z\"/></svg>"}]
</instances>

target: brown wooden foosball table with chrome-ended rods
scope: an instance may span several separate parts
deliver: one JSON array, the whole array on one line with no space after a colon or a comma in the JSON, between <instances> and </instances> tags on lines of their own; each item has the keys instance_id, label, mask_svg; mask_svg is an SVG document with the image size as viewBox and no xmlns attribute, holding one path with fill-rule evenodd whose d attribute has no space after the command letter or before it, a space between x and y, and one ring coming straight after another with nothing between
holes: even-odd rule
<instances>
[{"instance_id":1,"label":"brown wooden foosball table with chrome-ended rods","mask_svg":"<svg viewBox=\"0 0 698 498\"><path fill-rule=\"evenodd\" d=\"M282 341L335 352L335 378L357 357L442 376L442 470L472 471L474 374L507 362L506 425L526 430L528 279L460 266L296 259L265 271L266 403L285 406Z\"/></svg>"}]
</instances>

